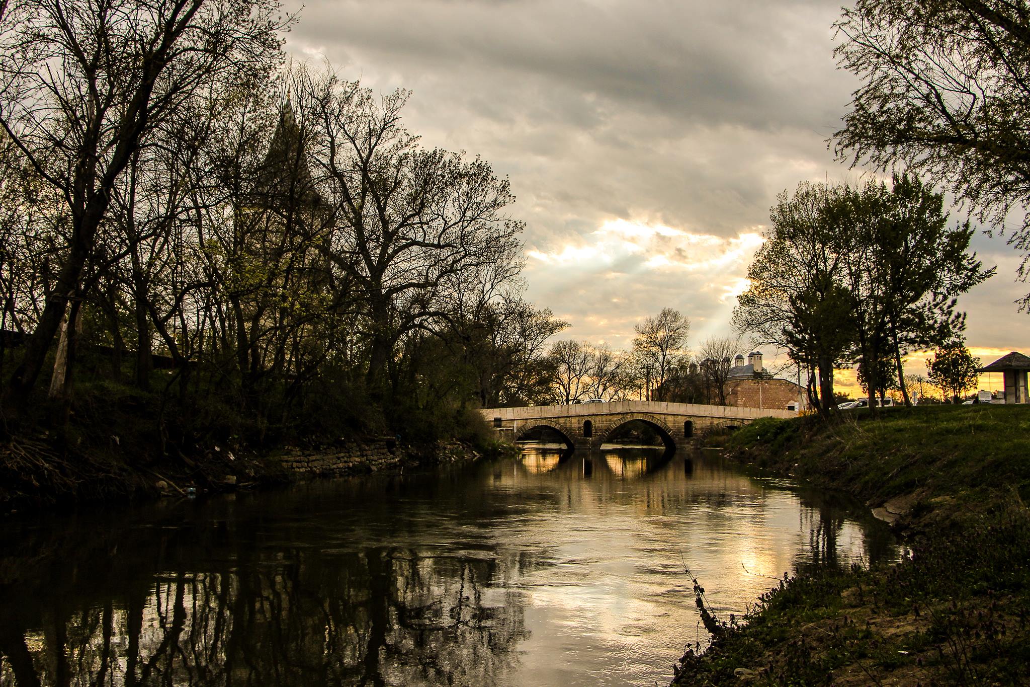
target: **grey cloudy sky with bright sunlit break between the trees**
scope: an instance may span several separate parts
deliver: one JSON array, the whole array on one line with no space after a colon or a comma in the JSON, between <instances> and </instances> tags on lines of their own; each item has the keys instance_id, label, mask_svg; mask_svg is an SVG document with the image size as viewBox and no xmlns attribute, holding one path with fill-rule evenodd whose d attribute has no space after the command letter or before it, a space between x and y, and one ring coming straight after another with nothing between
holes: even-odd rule
<instances>
[{"instance_id":1,"label":"grey cloudy sky with bright sunlit break between the trees","mask_svg":"<svg viewBox=\"0 0 1030 687\"><path fill-rule=\"evenodd\" d=\"M857 85L832 59L838 12L839 0L311 0L287 49L411 90L407 126L426 145L511 179L526 296L572 323L562 338L625 347L668 306L696 346L729 333L776 196L861 178L826 145ZM970 347L1027 351L1017 255L986 236L974 247L999 274L960 302Z\"/></svg>"}]
</instances>

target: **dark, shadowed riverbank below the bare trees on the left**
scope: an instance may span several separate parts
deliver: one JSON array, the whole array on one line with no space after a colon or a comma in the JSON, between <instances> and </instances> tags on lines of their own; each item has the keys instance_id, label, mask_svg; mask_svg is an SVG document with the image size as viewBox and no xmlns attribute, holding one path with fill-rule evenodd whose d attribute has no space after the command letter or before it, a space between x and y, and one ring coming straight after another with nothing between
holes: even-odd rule
<instances>
[{"instance_id":1,"label":"dark, shadowed riverbank below the bare trees on the left","mask_svg":"<svg viewBox=\"0 0 1030 687\"><path fill-rule=\"evenodd\" d=\"M417 443L362 432L312 437L301 444L247 441L229 431L201 433L179 426L170 438L152 410L146 404L111 405L101 415L73 416L59 428L45 421L7 427L0 436L0 515L399 471L476 459L490 449L468 440Z\"/></svg>"}]
</instances>

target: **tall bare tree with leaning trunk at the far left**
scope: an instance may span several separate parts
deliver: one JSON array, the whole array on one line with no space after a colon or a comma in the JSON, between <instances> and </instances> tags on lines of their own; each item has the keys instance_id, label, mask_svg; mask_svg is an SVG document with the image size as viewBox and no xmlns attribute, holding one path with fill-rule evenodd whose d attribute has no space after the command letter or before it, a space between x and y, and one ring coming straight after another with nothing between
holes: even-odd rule
<instances>
[{"instance_id":1,"label":"tall bare tree with leaning trunk at the far left","mask_svg":"<svg viewBox=\"0 0 1030 687\"><path fill-rule=\"evenodd\" d=\"M274 0L13 0L0 34L0 127L68 206L56 285L9 389L34 386L133 156L213 82L279 60ZM287 20L288 22L289 20Z\"/></svg>"}]
</instances>

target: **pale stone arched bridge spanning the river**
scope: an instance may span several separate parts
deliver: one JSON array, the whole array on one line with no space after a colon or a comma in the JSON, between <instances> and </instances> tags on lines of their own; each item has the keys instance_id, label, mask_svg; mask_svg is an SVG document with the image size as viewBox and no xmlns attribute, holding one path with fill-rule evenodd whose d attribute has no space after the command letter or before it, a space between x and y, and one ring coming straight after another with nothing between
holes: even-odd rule
<instances>
[{"instance_id":1,"label":"pale stone arched bridge spanning the river","mask_svg":"<svg viewBox=\"0 0 1030 687\"><path fill-rule=\"evenodd\" d=\"M480 411L499 432L512 441L538 427L561 434L574 448L599 448L616 430L642 420L658 430L665 444L684 446L699 433L714 427L748 424L759 417L795 417L787 410L702 406L659 401L616 401L562 406L484 408Z\"/></svg>"}]
</instances>

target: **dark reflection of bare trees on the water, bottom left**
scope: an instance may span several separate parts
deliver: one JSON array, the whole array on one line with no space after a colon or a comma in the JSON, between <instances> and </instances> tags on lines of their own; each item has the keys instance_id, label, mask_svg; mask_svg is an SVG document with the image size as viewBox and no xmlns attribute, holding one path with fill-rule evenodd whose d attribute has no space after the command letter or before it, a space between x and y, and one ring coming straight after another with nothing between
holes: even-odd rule
<instances>
[{"instance_id":1,"label":"dark reflection of bare trees on the water, bottom left","mask_svg":"<svg viewBox=\"0 0 1030 687\"><path fill-rule=\"evenodd\" d=\"M517 594L489 585L492 559L239 555L99 606L66 609L60 593L21 605L0 619L0 687L496 684L527 634Z\"/></svg>"}]
</instances>

